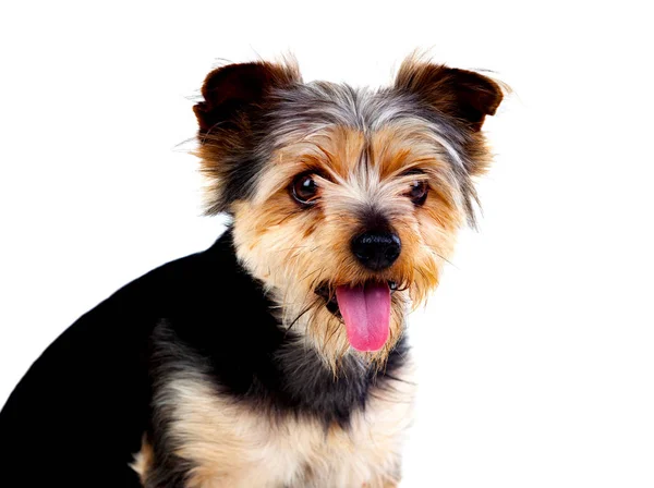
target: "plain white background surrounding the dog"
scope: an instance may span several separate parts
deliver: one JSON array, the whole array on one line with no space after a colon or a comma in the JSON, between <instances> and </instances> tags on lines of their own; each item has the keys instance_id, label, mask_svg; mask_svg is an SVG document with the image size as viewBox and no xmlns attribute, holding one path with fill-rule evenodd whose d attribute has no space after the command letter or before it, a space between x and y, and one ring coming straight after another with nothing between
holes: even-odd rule
<instances>
[{"instance_id":1,"label":"plain white background surrounding the dog","mask_svg":"<svg viewBox=\"0 0 654 488\"><path fill-rule=\"evenodd\" d=\"M514 94L481 230L410 328L402 486L654 486L646 2L98 3L0 12L0 404L81 314L221 231L177 147L219 58L379 85L428 48Z\"/></svg>"}]
</instances>

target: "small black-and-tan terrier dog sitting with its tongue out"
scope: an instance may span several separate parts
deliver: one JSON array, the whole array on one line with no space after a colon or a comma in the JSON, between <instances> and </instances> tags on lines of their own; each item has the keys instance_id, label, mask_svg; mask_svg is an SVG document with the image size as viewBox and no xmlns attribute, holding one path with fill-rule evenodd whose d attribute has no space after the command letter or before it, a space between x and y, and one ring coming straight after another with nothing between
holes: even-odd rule
<instances>
[{"instance_id":1,"label":"small black-and-tan terrier dog sitting with its tongue out","mask_svg":"<svg viewBox=\"0 0 654 488\"><path fill-rule=\"evenodd\" d=\"M407 314L474 223L475 72L392 86L293 62L208 74L194 107L207 251L128 284L55 341L0 414L3 486L393 487L413 383Z\"/></svg>"}]
</instances>

